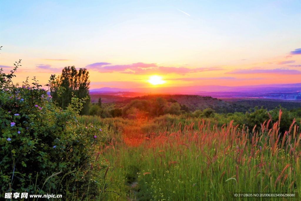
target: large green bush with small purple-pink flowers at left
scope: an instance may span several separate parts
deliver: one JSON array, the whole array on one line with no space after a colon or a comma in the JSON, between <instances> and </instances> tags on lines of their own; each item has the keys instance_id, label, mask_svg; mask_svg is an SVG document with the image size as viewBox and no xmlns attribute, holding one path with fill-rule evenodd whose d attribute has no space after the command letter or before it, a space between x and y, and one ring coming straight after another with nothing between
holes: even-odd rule
<instances>
[{"instance_id":1,"label":"large green bush with small purple-pink flowers at left","mask_svg":"<svg viewBox=\"0 0 301 201\"><path fill-rule=\"evenodd\" d=\"M0 70L1 196L29 192L81 197L87 189L90 195L103 192L100 174L107 164L93 155L107 131L77 122L84 100L73 97L62 110L36 78L31 86L28 78L22 85L14 84L11 78L20 61L10 74ZM54 82L51 75L46 87Z\"/></svg>"}]
</instances>

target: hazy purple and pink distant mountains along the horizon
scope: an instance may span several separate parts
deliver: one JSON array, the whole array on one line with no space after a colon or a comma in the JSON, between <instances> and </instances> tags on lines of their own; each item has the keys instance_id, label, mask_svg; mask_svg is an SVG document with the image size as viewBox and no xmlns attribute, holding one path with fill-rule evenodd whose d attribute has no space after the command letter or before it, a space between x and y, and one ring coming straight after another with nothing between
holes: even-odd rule
<instances>
[{"instance_id":1,"label":"hazy purple and pink distant mountains along the horizon","mask_svg":"<svg viewBox=\"0 0 301 201\"><path fill-rule=\"evenodd\" d=\"M90 94L116 93L143 93L143 94L188 94L200 96L212 96L215 98L268 98L268 99L301 99L301 83L296 84L268 84L252 86L180 86L180 87L149 87L149 88L110 88L103 87L90 90Z\"/></svg>"}]
</instances>

